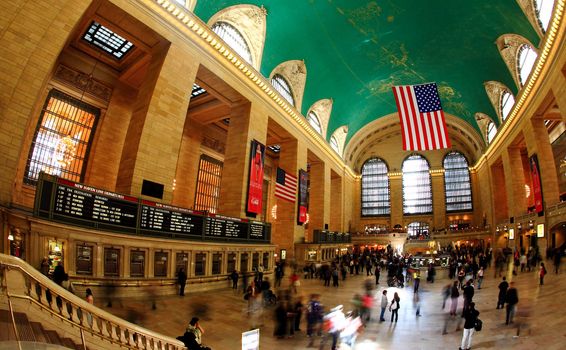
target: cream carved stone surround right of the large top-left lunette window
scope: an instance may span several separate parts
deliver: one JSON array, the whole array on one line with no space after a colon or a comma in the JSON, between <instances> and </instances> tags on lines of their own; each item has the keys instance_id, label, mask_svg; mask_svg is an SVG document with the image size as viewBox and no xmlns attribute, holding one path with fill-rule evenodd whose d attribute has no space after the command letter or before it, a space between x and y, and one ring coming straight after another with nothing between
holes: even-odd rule
<instances>
[{"instance_id":1,"label":"cream carved stone surround right of the large top-left lunette window","mask_svg":"<svg viewBox=\"0 0 566 350\"><path fill-rule=\"evenodd\" d=\"M267 10L254 5L234 5L217 12L208 25L226 22L234 26L246 40L252 55L252 66L259 71L265 43Z\"/></svg>"}]
</instances>

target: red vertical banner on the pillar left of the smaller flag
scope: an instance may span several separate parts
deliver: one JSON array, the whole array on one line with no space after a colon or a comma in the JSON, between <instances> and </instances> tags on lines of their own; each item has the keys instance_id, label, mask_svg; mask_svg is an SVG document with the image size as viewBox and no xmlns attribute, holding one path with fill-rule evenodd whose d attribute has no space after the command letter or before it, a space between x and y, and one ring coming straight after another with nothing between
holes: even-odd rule
<instances>
[{"instance_id":1,"label":"red vertical banner on the pillar left of the smaller flag","mask_svg":"<svg viewBox=\"0 0 566 350\"><path fill-rule=\"evenodd\" d=\"M265 146L252 140L250 147L250 173L248 176L248 200L246 212L255 217L261 213L263 199L263 166L265 161Z\"/></svg>"}]
</instances>

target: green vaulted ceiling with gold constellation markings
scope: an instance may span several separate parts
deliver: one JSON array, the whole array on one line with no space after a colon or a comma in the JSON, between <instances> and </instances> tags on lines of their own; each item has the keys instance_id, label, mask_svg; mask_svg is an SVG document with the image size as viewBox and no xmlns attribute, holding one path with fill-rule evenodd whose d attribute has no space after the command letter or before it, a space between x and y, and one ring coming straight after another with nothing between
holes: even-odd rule
<instances>
[{"instance_id":1,"label":"green vaulted ceiling with gold constellation markings","mask_svg":"<svg viewBox=\"0 0 566 350\"><path fill-rule=\"evenodd\" d=\"M208 21L241 1L199 0ZM519 34L539 38L516 0L248 0L264 6L267 33L261 73L304 60L302 114L323 98L334 101L328 138L348 125L348 138L396 111L393 85L436 82L443 109L477 129L474 113L495 117L483 83L517 87L495 40Z\"/></svg>"}]
</instances>

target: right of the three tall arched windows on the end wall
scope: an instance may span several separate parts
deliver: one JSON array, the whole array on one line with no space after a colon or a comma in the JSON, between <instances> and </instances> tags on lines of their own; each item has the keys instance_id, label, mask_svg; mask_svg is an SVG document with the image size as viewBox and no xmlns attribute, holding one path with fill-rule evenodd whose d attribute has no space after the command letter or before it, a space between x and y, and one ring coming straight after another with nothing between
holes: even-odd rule
<instances>
[{"instance_id":1,"label":"right of the three tall arched windows on the end wall","mask_svg":"<svg viewBox=\"0 0 566 350\"><path fill-rule=\"evenodd\" d=\"M450 152L443 165L446 211L472 210L472 184L466 157L459 152Z\"/></svg>"}]
</instances>

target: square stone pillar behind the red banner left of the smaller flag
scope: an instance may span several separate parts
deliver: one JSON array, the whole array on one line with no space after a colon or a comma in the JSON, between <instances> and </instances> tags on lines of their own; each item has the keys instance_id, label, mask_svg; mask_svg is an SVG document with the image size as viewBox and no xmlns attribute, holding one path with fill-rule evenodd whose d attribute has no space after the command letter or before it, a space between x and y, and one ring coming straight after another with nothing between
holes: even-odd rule
<instances>
[{"instance_id":1,"label":"square stone pillar behind the red banner left of the smaller flag","mask_svg":"<svg viewBox=\"0 0 566 350\"><path fill-rule=\"evenodd\" d=\"M232 108L220 187L220 214L246 216L251 141L255 139L265 145L267 120L267 112L257 105L245 103Z\"/></svg>"}]
</instances>

